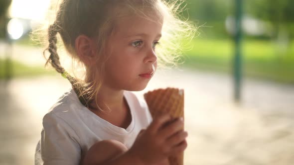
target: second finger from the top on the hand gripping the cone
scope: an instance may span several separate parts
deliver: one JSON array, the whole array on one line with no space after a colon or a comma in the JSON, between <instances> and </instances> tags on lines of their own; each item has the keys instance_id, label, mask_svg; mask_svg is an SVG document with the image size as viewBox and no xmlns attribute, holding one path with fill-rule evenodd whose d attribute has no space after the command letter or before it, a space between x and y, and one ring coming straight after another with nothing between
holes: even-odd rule
<instances>
[{"instance_id":1,"label":"second finger from the top on the hand gripping the cone","mask_svg":"<svg viewBox=\"0 0 294 165\"><path fill-rule=\"evenodd\" d=\"M180 120L178 118L177 120L174 120L173 122L163 127L159 132L159 136L164 139L167 139L173 134L177 133L178 131L183 130L183 127L184 127L183 120Z\"/></svg>"}]
</instances>

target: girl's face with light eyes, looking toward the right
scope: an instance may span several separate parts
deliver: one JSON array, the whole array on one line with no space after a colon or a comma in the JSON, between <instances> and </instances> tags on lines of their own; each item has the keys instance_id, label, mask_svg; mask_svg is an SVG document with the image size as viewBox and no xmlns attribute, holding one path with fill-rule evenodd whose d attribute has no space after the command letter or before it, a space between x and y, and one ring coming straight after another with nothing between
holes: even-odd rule
<instances>
[{"instance_id":1,"label":"girl's face with light eyes, looking toward the right","mask_svg":"<svg viewBox=\"0 0 294 165\"><path fill-rule=\"evenodd\" d=\"M116 22L106 43L104 85L130 91L143 90L157 67L155 47L162 22L126 16Z\"/></svg>"}]
</instances>

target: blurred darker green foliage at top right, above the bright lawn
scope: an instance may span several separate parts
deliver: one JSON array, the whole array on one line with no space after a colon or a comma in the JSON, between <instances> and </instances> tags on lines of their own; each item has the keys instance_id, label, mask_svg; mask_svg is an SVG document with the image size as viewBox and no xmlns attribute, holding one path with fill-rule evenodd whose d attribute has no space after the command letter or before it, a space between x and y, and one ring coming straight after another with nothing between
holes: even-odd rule
<instances>
[{"instance_id":1,"label":"blurred darker green foliage at top right, above the bright lawn","mask_svg":"<svg viewBox=\"0 0 294 165\"><path fill-rule=\"evenodd\" d=\"M225 19L235 14L235 0L185 0L184 17L195 21L203 38L228 38ZM258 38L277 38L287 32L294 38L294 0L243 0L244 15L269 22L272 34L255 36ZM267 27L269 28L269 27ZM200 31L201 32L201 31Z\"/></svg>"}]
</instances>

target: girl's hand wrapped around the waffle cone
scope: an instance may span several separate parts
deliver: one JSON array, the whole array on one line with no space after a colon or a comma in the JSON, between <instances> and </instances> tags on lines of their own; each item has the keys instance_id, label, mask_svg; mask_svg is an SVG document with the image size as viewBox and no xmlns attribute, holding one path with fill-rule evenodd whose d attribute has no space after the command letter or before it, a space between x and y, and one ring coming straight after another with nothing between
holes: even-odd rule
<instances>
[{"instance_id":1,"label":"girl's hand wrapped around the waffle cone","mask_svg":"<svg viewBox=\"0 0 294 165\"><path fill-rule=\"evenodd\" d=\"M166 114L155 118L146 130L139 133L128 152L142 164L150 165L184 151L188 134L183 131L183 124L182 119L171 120Z\"/></svg>"}]
</instances>

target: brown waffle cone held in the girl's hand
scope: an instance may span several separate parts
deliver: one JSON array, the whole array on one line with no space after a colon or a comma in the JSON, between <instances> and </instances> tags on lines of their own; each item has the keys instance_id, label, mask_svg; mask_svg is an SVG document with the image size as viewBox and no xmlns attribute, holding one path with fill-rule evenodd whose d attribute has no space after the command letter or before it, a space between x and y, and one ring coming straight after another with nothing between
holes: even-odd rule
<instances>
[{"instance_id":1,"label":"brown waffle cone held in the girl's hand","mask_svg":"<svg viewBox=\"0 0 294 165\"><path fill-rule=\"evenodd\" d=\"M184 90L178 88L159 88L144 94L152 118L170 114L173 118L184 118ZM184 129L184 128L183 128ZM168 158L169 165L183 165L184 153Z\"/></svg>"}]
</instances>

